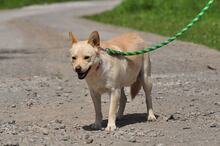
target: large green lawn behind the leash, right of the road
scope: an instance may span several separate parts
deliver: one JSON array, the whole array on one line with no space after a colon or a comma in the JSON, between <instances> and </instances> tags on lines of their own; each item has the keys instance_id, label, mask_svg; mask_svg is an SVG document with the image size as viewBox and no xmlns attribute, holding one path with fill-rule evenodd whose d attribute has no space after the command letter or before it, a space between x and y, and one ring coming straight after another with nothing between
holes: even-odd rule
<instances>
[{"instance_id":1,"label":"large green lawn behind the leash, right of the road","mask_svg":"<svg viewBox=\"0 0 220 146\"><path fill-rule=\"evenodd\" d=\"M141 31L172 36L188 24L208 0L124 0L111 11L86 18ZM202 21L180 37L220 50L220 1Z\"/></svg>"}]
</instances>

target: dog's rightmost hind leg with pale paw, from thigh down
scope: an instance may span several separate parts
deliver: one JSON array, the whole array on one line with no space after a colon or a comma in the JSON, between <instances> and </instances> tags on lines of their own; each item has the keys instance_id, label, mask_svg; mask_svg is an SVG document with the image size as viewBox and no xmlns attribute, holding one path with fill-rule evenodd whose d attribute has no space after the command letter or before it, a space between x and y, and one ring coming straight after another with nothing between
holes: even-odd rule
<instances>
[{"instance_id":1,"label":"dog's rightmost hind leg with pale paw, from thigh down","mask_svg":"<svg viewBox=\"0 0 220 146\"><path fill-rule=\"evenodd\" d=\"M151 81L151 63L149 55L145 55L145 62L141 71L141 81L146 97L146 106L147 106L147 120L155 121L156 117L153 112L151 90L152 90L152 81Z\"/></svg>"}]
</instances>

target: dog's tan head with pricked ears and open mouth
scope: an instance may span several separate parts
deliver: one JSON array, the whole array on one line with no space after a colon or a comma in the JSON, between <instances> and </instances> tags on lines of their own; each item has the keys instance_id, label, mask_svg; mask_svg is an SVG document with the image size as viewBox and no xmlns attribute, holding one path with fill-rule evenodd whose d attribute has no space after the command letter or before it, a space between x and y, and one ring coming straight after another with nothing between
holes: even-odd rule
<instances>
[{"instance_id":1,"label":"dog's tan head with pricked ears and open mouth","mask_svg":"<svg viewBox=\"0 0 220 146\"><path fill-rule=\"evenodd\" d=\"M100 47L99 33L94 31L86 41L77 40L71 32L72 48L70 54L72 57L73 69L78 74L79 79L84 79L95 64L97 64L98 48Z\"/></svg>"}]
</instances>

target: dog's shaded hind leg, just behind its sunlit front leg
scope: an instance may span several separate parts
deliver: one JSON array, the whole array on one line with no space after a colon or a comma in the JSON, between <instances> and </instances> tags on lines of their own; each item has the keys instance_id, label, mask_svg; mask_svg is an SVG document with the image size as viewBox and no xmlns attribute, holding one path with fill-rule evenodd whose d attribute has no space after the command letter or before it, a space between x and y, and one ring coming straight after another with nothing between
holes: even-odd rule
<instances>
[{"instance_id":1,"label":"dog's shaded hind leg, just behind its sunlit front leg","mask_svg":"<svg viewBox=\"0 0 220 146\"><path fill-rule=\"evenodd\" d=\"M117 113L117 119L122 118L124 110L125 110L126 102L127 102L127 97L125 95L124 88L122 88L121 89L121 98L120 98L120 103L119 103L119 109L118 109L118 113Z\"/></svg>"}]
</instances>

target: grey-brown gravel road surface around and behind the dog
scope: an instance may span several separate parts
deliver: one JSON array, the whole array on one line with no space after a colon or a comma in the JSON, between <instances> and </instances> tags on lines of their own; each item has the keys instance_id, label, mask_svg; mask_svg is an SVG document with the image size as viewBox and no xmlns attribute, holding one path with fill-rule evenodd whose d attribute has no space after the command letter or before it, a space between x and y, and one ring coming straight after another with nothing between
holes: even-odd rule
<instances>
[{"instance_id":1,"label":"grey-brown gravel road surface around and behind the dog","mask_svg":"<svg viewBox=\"0 0 220 146\"><path fill-rule=\"evenodd\" d=\"M84 39L99 30L105 40L133 31L80 18L119 2L0 11L0 145L220 145L220 53L180 41L151 53L157 121L146 121L141 91L134 101L129 98L117 131L90 131L93 105L85 82L72 71L67 32ZM149 44L165 39L139 33ZM105 126L107 96L102 105Z\"/></svg>"}]
</instances>

